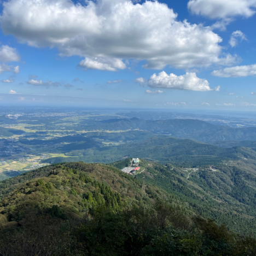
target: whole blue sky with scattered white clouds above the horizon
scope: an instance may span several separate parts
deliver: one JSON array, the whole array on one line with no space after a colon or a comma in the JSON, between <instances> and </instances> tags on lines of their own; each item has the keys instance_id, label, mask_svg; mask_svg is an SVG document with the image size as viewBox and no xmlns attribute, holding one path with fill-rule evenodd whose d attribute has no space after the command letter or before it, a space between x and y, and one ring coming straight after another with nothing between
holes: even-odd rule
<instances>
[{"instance_id":1,"label":"whole blue sky with scattered white clouds above the horizon","mask_svg":"<svg viewBox=\"0 0 256 256\"><path fill-rule=\"evenodd\" d=\"M0 10L2 104L256 110L256 0L9 0Z\"/></svg>"}]
</instances>

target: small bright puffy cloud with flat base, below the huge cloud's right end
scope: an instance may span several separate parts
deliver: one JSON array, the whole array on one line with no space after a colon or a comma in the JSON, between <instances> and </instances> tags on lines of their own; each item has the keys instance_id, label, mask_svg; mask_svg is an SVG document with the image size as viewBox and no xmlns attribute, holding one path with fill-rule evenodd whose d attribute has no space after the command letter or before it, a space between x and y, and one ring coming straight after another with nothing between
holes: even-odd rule
<instances>
[{"instance_id":1,"label":"small bright puffy cloud with flat base, below the huge cloud's right end","mask_svg":"<svg viewBox=\"0 0 256 256\"><path fill-rule=\"evenodd\" d=\"M148 86L152 88L166 88L177 90L190 90L190 91L211 91L219 90L219 86L215 89L211 89L206 79L196 77L196 73L186 73L180 75L166 74L164 71L158 75L153 74L148 79Z\"/></svg>"}]
</instances>

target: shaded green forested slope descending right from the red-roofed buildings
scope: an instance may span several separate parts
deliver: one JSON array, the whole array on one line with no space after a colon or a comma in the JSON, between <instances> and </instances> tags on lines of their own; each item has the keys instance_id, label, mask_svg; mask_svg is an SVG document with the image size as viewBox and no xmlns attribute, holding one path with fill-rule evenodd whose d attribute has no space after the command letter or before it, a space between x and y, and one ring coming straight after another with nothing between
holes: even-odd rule
<instances>
[{"instance_id":1,"label":"shaded green forested slope descending right from the red-roofed buildings","mask_svg":"<svg viewBox=\"0 0 256 256\"><path fill-rule=\"evenodd\" d=\"M139 181L144 176L146 184L164 189L204 218L225 223L235 232L255 234L255 171L223 164L214 167L218 171L210 168L183 170L154 162L148 164L144 160L140 165L146 170L137 174Z\"/></svg>"}]
</instances>

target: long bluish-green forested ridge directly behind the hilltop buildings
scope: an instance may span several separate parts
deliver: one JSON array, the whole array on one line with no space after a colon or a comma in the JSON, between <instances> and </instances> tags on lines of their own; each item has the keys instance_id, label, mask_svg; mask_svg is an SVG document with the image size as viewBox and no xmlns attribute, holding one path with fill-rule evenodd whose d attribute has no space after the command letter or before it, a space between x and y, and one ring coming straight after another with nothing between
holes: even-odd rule
<instances>
[{"instance_id":1,"label":"long bluish-green forested ridge directly behind the hilltop buildings","mask_svg":"<svg viewBox=\"0 0 256 256\"><path fill-rule=\"evenodd\" d=\"M178 139L172 137L151 137L143 142L121 144L103 148L90 148L73 150L66 153L68 158L50 158L43 162L54 164L62 161L85 162L112 162L125 157L145 158L160 162L175 162L179 165L196 166L211 165L223 160L243 157L243 149L240 147L222 148L205 143L192 141L191 139ZM256 155L251 150L251 157Z\"/></svg>"}]
</instances>

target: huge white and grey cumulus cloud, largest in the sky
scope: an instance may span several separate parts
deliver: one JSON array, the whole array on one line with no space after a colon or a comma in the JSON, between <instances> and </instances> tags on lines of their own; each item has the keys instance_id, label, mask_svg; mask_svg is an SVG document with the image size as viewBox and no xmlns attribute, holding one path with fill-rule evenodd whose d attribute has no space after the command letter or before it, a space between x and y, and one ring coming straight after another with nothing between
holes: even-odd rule
<instances>
[{"instance_id":1,"label":"huge white and grey cumulus cloud, largest in the sky","mask_svg":"<svg viewBox=\"0 0 256 256\"><path fill-rule=\"evenodd\" d=\"M145 60L144 68L153 69L227 65L236 60L223 54L222 38L210 27L178 21L177 14L158 1L82 5L69 0L9 0L3 3L0 22L4 33L21 43L56 47L61 56L84 57L78 64L84 69L117 71L125 69L124 60L129 59Z\"/></svg>"}]
</instances>

